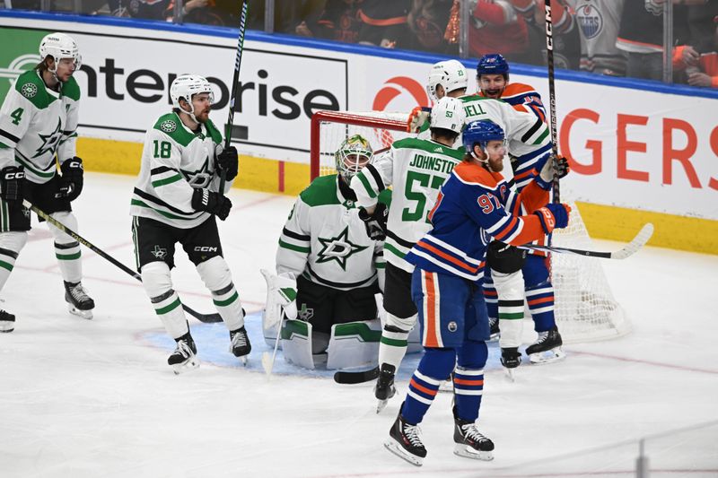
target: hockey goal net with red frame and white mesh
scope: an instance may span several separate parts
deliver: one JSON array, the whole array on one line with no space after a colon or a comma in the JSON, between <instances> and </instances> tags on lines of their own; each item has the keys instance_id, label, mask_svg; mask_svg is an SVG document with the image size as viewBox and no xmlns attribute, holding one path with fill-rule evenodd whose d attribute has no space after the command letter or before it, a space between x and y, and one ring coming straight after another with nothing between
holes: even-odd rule
<instances>
[{"instance_id":1,"label":"hockey goal net with red frame and white mesh","mask_svg":"<svg viewBox=\"0 0 718 478\"><path fill-rule=\"evenodd\" d=\"M334 153L350 135L362 135L374 152L410 134L406 113L319 111L311 119L311 178L337 172ZM553 245L594 249L576 204L566 229L554 232ZM627 334L631 327L613 297L600 259L553 254L556 325L565 343L604 340ZM526 317L530 317L526 310Z\"/></svg>"}]
</instances>

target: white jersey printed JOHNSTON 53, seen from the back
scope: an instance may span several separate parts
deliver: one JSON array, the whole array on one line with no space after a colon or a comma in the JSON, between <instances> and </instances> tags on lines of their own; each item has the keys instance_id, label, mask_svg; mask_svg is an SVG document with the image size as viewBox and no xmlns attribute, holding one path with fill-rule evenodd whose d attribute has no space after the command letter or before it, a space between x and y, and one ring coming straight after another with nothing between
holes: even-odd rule
<instances>
[{"instance_id":1,"label":"white jersey printed JOHNSTON 53, seen from the back","mask_svg":"<svg viewBox=\"0 0 718 478\"><path fill-rule=\"evenodd\" d=\"M427 215L436 203L439 188L463 157L463 148L405 138L352 178L352 189L363 207L376 204L381 191L393 185L384 243L384 258L391 265L409 273L414 270L404 256L432 229Z\"/></svg>"}]
</instances>

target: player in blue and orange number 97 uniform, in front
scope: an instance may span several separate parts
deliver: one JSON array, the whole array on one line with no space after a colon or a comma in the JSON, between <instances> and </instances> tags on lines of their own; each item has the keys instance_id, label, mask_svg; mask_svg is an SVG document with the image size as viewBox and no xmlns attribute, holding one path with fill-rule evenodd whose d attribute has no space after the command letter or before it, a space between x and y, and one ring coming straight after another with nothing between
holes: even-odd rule
<instances>
[{"instance_id":1,"label":"player in blue and orange number 97 uniform, in front","mask_svg":"<svg viewBox=\"0 0 718 478\"><path fill-rule=\"evenodd\" d=\"M457 362L454 453L493 459L494 443L475 423L484 388L485 341L489 335L481 292L486 245L492 238L512 245L526 244L556 227L564 228L570 212L566 204L546 204L547 191L536 182L521 194L510 189L501 175L503 130L495 123L469 123L463 143L466 155L442 186L429 215L433 229L406 256L416 266L412 296L419 312L425 355L409 382L406 401L385 447L414 465L422 465L426 456L418 423ZM514 215L521 202L531 213Z\"/></svg>"}]
</instances>

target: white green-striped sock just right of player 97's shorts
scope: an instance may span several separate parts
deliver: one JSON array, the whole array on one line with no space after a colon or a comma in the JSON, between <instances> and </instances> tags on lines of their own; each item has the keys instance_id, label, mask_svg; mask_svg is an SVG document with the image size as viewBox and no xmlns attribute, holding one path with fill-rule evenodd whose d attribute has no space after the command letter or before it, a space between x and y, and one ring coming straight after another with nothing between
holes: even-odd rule
<instances>
[{"instance_id":1,"label":"white green-striped sock just right of player 97's shorts","mask_svg":"<svg viewBox=\"0 0 718 478\"><path fill-rule=\"evenodd\" d=\"M503 274L494 270L491 274L498 293L499 345L518 347L523 332L523 275L521 271Z\"/></svg>"}]
</instances>

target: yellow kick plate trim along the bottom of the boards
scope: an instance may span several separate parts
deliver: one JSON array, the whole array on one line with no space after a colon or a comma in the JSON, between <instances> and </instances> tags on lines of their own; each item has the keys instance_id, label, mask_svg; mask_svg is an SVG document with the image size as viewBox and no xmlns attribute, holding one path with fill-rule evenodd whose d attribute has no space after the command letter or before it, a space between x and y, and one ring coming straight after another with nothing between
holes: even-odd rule
<instances>
[{"instance_id":1,"label":"yellow kick plate trim along the bottom of the boards","mask_svg":"<svg viewBox=\"0 0 718 478\"><path fill-rule=\"evenodd\" d=\"M78 138L77 152L84 169L136 176L142 143ZM309 185L308 164L240 156L240 175L234 187L297 196ZM592 238L628 241L646 222L655 226L650 246L718 255L718 221L650 213L623 207L578 203Z\"/></svg>"}]
</instances>

